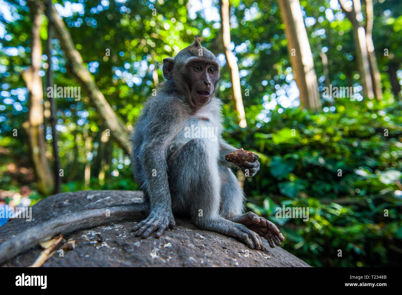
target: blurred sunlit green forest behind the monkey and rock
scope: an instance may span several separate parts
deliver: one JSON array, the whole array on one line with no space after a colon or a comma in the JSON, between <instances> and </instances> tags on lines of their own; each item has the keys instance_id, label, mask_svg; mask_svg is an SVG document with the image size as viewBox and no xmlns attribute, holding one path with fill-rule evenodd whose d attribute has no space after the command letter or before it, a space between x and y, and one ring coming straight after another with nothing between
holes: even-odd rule
<instances>
[{"instance_id":1,"label":"blurred sunlit green forest behind the monkey and rock","mask_svg":"<svg viewBox=\"0 0 402 295\"><path fill-rule=\"evenodd\" d=\"M0 206L139 189L131 125L162 60L201 35L222 65L224 138L260 156L255 177L237 174L248 210L312 266L399 266L401 11L400 0L0 0ZM275 218L282 205L309 220Z\"/></svg>"}]
</instances>

